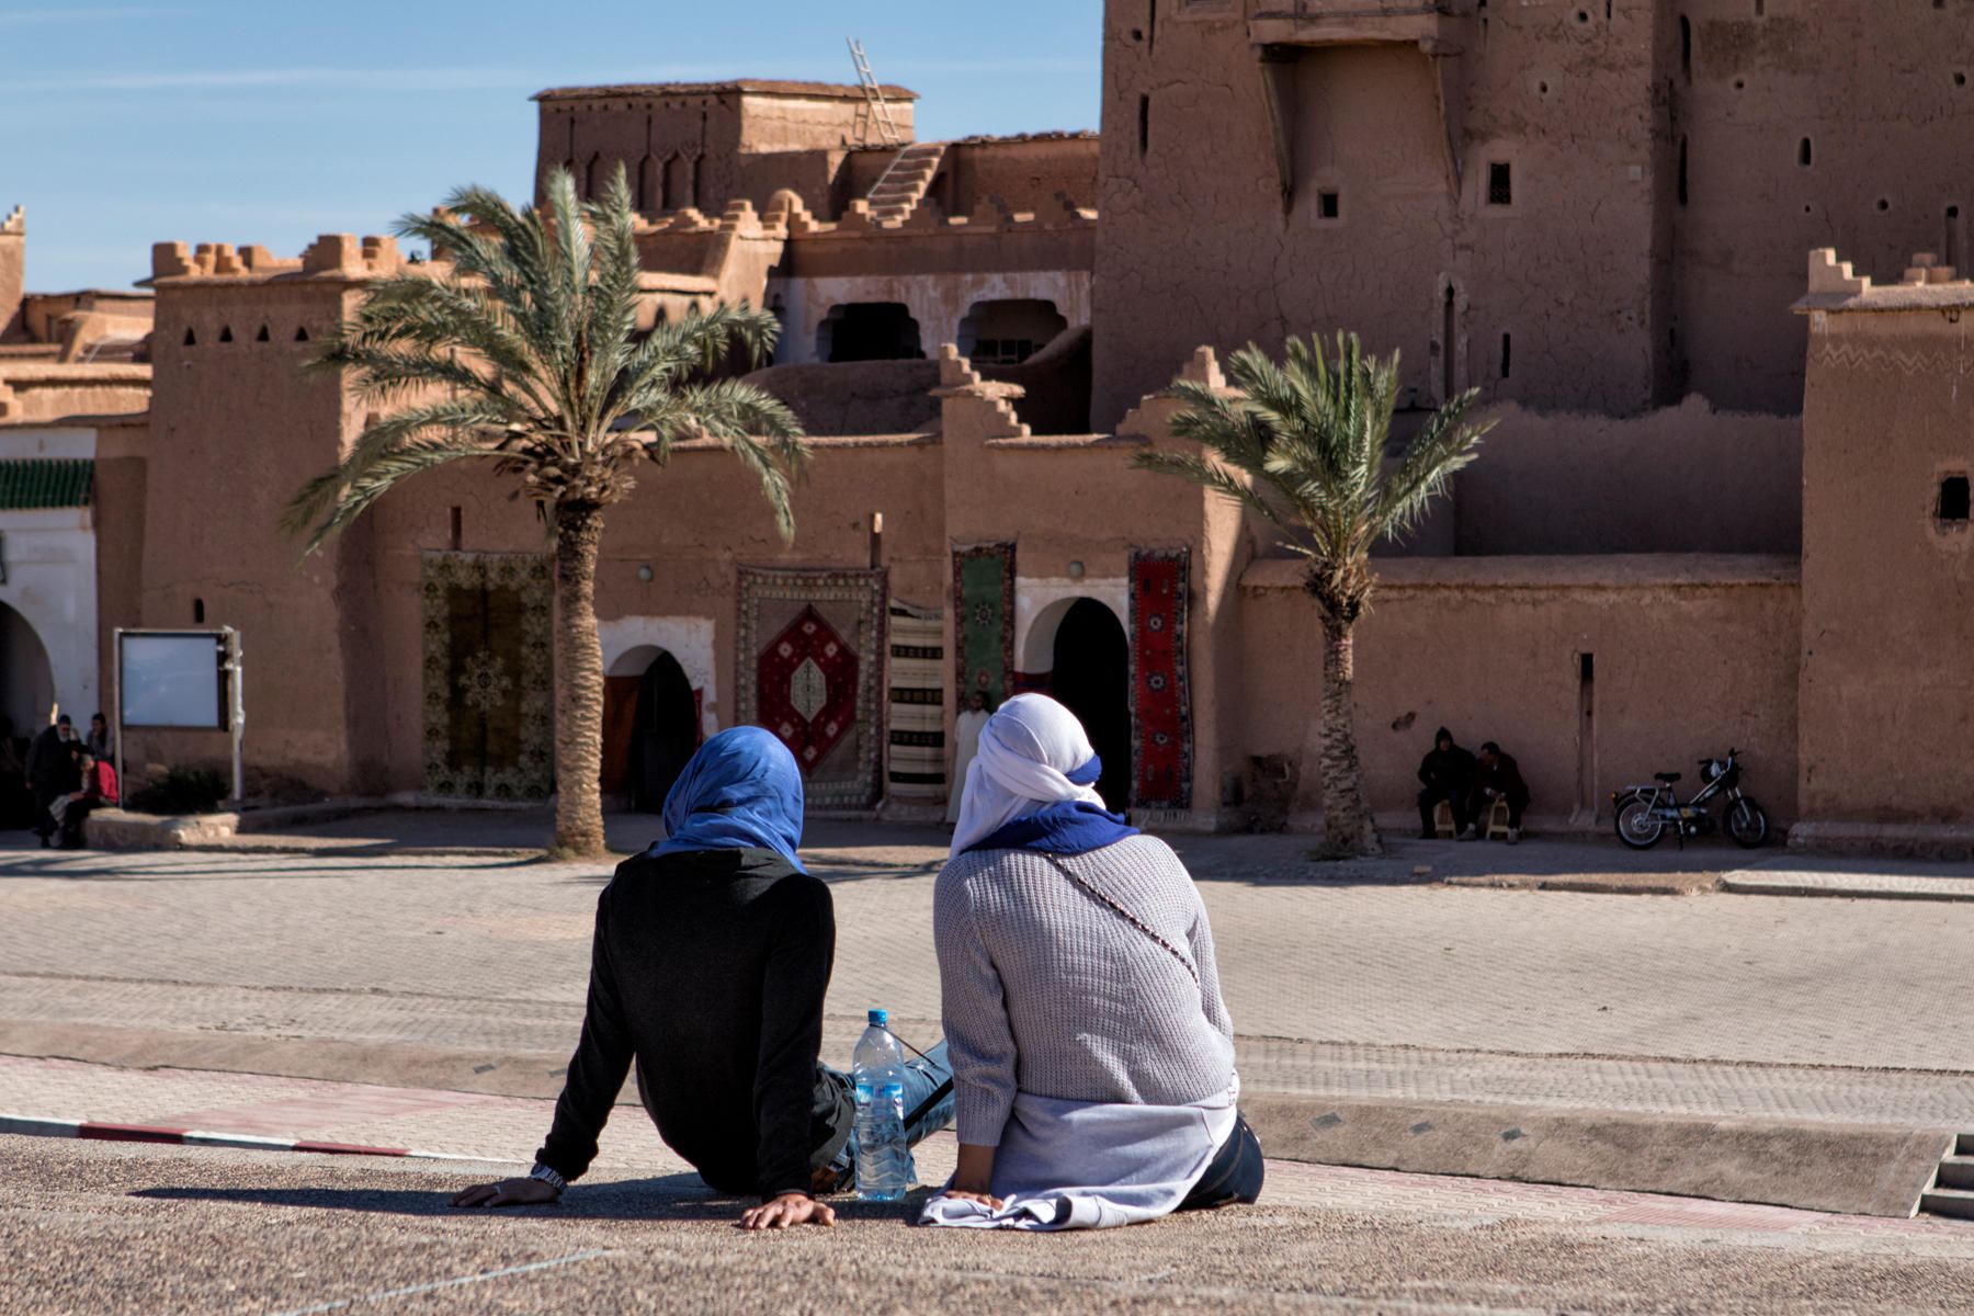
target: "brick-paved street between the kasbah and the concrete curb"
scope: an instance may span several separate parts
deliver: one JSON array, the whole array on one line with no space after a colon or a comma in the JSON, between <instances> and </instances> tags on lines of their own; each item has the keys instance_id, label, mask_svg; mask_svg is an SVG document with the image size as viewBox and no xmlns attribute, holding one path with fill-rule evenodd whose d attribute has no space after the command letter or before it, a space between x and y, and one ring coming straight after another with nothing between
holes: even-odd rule
<instances>
[{"instance_id":1,"label":"brick-paved street between the kasbah and the concrete curb","mask_svg":"<svg viewBox=\"0 0 1974 1316\"><path fill-rule=\"evenodd\" d=\"M833 827L857 844L809 860L837 902L825 1042L847 1060L873 1004L914 1040L938 1032L940 852L936 835ZM1311 880L1279 837L1180 844L1252 1091L1974 1129L1974 987L1938 953L1974 935L1974 908ZM219 1063L203 1056L227 1044L225 1067L276 1044L426 1048L462 1056L464 1087L547 1095L606 876L495 856L0 856L0 1040L114 1030L160 1038L166 1061L195 1042ZM499 1087L515 1067L533 1085Z\"/></svg>"}]
</instances>

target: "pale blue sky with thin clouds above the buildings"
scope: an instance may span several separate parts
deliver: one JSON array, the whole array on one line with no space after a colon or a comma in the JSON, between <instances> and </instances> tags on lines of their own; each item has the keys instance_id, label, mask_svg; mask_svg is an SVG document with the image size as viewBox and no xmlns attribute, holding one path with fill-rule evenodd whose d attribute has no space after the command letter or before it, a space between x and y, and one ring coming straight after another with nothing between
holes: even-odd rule
<instances>
[{"instance_id":1,"label":"pale blue sky with thin clouds above the buildings","mask_svg":"<svg viewBox=\"0 0 1974 1316\"><path fill-rule=\"evenodd\" d=\"M383 233L458 183L531 187L572 83L878 79L918 134L1096 128L1101 0L0 0L0 211L28 288L120 288L150 245Z\"/></svg>"}]
</instances>

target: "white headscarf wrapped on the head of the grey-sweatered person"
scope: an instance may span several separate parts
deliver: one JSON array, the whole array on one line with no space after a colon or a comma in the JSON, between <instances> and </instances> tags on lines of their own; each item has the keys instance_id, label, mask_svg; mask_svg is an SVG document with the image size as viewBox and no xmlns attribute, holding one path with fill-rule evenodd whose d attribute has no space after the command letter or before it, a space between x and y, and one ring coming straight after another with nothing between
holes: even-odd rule
<instances>
[{"instance_id":1,"label":"white headscarf wrapped on the head of the grey-sweatered person","mask_svg":"<svg viewBox=\"0 0 1974 1316\"><path fill-rule=\"evenodd\" d=\"M1076 714L1046 695L1017 695L1001 704L981 728L981 748L967 768L951 852L1044 805L1082 799L1101 809L1094 785L1070 781L1096 754Z\"/></svg>"}]
</instances>

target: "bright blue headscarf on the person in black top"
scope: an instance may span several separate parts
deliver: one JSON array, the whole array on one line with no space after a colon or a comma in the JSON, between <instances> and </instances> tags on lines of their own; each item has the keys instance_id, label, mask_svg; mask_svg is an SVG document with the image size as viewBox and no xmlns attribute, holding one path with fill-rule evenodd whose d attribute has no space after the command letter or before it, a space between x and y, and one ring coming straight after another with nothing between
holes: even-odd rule
<instances>
[{"instance_id":1,"label":"bright blue headscarf on the person in black top","mask_svg":"<svg viewBox=\"0 0 1974 1316\"><path fill-rule=\"evenodd\" d=\"M645 854L774 850L796 872L801 844L801 769L774 734L730 726L707 744L665 795L665 841Z\"/></svg>"}]
</instances>

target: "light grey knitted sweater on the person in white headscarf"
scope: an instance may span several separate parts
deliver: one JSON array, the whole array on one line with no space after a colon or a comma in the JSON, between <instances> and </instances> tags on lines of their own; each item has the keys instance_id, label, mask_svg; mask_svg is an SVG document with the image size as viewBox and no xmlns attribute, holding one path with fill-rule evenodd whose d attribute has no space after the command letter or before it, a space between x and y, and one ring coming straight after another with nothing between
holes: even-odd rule
<instances>
[{"instance_id":1,"label":"light grey knitted sweater on the person in white headscarf","mask_svg":"<svg viewBox=\"0 0 1974 1316\"><path fill-rule=\"evenodd\" d=\"M946 864L932 927L959 1140L999 1146L1015 1093L1184 1105L1234 1077L1234 1020L1190 874L1153 837L1062 856L1165 947L1032 850Z\"/></svg>"}]
</instances>

